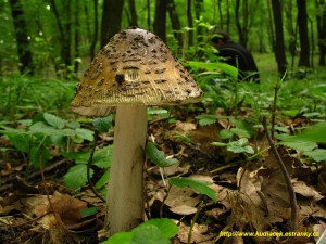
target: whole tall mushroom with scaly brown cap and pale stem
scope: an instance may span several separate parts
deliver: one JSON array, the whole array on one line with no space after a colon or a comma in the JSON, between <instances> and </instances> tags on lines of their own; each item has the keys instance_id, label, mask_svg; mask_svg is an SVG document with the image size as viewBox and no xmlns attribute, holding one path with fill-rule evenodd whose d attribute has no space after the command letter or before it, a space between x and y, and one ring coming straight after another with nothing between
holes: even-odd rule
<instances>
[{"instance_id":1,"label":"whole tall mushroom with scaly brown cap and pale stem","mask_svg":"<svg viewBox=\"0 0 326 244\"><path fill-rule=\"evenodd\" d=\"M91 62L71 110L104 116L116 106L105 235L128 231L143 219L147 105L195 103L201 94L164 42L137 27L116 34Z\"/></svg>"}]
</instances>

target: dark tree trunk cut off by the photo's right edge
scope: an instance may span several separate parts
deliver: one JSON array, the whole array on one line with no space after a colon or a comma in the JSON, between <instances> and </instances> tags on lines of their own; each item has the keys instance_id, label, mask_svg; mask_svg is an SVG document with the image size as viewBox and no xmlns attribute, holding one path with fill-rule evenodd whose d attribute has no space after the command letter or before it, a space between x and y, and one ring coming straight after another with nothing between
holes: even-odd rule
<instances>
[{"instance_id":1,"label":"dark tree trunk cut off by the photo's right edge","mask_svg":"<svg viewBox=\"0 0 326 244\"><path fill-rule=\"evenodd\" d=\"M319 66L325 66L326 57L326 9L324 0L315 1L316 9L322 10L317 14L317 31L318 31L318 48L319 48Z\"/></svg>"}]
</instances>

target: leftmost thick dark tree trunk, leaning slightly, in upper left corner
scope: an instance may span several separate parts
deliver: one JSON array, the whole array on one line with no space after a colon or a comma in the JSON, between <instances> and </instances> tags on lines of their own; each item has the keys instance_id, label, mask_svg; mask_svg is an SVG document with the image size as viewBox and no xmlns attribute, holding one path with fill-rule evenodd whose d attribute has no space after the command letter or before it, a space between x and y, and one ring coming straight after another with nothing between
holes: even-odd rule
<instances>
[{"instance_id":1,"label":"leftmost thick dark tree trunk, leaning slightly, in upper left corner","mask_svg":"<svg viewBox=\"0 0 326 244\"><path fill-rule=\"evenodd\" d=\"M33 57L29 47L29 36L25 22L23 5L20 0L10 0L11 15L16 36L17 53L20 59L21 74L34 74Z\"/></svg>"}]
</instances>

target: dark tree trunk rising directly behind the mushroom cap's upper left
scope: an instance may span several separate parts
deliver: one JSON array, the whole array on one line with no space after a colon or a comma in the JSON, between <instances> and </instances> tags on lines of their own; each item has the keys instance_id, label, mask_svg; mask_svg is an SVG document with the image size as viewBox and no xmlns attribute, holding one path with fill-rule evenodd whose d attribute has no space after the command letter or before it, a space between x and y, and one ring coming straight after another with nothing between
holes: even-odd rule
<instances>
[{"instance_id":1,"label":"dark tree trunk rising directly behind the mushroom cap's upper left","mask_svg":"<svg viewBox=\"0 0 326 244\"><path fill-rule=\"evenodd\" d=\"M101 48L121 30L124 0L104 0L101 24Z\"/></svg>"}]
</instances>

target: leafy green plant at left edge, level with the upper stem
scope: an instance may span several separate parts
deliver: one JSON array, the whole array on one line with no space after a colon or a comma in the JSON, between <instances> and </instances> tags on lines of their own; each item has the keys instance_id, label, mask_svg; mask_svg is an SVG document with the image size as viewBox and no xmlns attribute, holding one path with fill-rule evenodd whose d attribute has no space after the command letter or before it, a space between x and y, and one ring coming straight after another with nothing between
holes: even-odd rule
<instances>
[{"instance_id":1,"label":"leafy green plant at left edge, level with the upper stem","mask_svg":"<svg viewBox=\"0 0 326 244\"><path fill-rule=\"evenodd\" d=\"M23 153L27 165L39 168L50 159L50 146L68 151L71 142L93 140L93 132L82 128L77 121L62 119L52 114L39 114L33 120L22 120L20 128L0 126L0 133Z\"/></svg>"}]
</instances>

